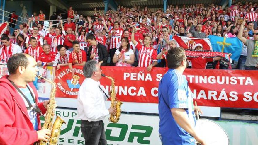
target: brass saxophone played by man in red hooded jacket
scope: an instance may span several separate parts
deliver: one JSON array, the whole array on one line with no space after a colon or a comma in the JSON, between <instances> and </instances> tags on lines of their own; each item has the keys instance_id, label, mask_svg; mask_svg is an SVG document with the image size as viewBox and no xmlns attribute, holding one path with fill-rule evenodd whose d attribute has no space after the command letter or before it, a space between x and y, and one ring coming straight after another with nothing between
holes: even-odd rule
<instances>
[{"instance_id":1,"label":"brass saxophone played by man in red hooded jacket","mask_svg":"<svg viewBox=\"0 0 258 145\"><path fill-rule=\"evenodd\" d=\"M51 95L49 98L49 104L47 105L45 122L43 125L43 129L51 130L51 135L50 135L50 138L48 141L41 140L39 145L47 145L47 144L48 145L56 145L58 142L59 135L60 135L61 126L63 123L65 123L65 121L62 118L57 116L54 124L52 124L53 118L55 115L55 105L54 104L55 104L56 83L54 81L47 80L46 78L44 78L43 76L40 76L40 75L37 75L37 77L39 79L44 79L45 81L51 83L51 85L52 85Z\"/></svg>"}]
</instances>

